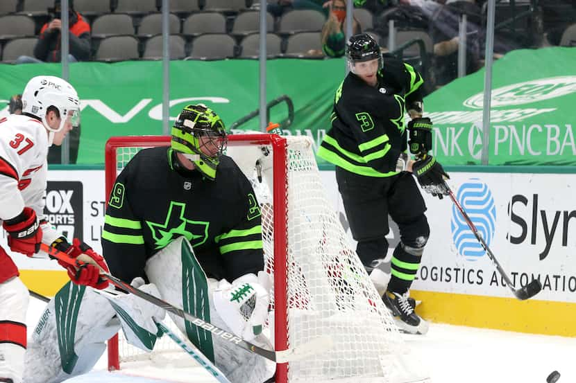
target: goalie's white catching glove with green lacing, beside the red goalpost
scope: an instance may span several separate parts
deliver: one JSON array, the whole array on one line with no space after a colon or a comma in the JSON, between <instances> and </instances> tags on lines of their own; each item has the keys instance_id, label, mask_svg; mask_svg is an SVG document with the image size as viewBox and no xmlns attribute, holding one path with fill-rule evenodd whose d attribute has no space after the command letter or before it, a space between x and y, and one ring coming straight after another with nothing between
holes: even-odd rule
<instances>
[{"instance_id":1,"label":"goalie's white catching glove with green lacing, beside the red goalpost","mask_svg":"<svg viewBox=\"0 0 576 383\"><path fill-rule=\"evenodd\" d=\"M257 276L246 274L232 284L220 280L212 296L214 308L235 335L246 341L260 335L268 319L270 299Z\"/></svg>"}]
</instances>

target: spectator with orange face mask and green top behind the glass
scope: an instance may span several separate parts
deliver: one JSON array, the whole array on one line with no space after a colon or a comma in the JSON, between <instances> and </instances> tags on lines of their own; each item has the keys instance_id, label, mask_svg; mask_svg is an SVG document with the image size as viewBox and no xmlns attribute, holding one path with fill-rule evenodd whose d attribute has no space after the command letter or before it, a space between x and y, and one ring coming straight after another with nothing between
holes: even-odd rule
<instances>
[{"instance_id":1,"label":"spectator with orange face mask and green top behind the glass","mask_svg":"<svg viewBox=\"0 0 576 383\"><path fill-rule=\"evenodd\" d=\"M328 20L322 27L322 51L328 57L342 57L346 48L346 0L333 0L328 3ZM354 17L353 35L362 33L360 23Z\"/></svg>"}]
</instances>

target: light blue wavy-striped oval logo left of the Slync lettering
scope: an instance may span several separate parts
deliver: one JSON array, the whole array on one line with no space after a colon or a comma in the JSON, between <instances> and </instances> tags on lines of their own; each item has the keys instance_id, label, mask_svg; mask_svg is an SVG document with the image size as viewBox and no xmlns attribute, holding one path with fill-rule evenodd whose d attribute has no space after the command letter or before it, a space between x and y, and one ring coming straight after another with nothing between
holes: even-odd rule
<instances>
[{"instance_id":1,"label":"light blue wavy-striped oval logo left of the Slync lettering","mask_svg":"<svg viewBox=\"0 0 576 383\"><path fill-rule=\"evenodd\" d=\"M466 213L468 213L478 233L482 235L486 244L490 246L494 238L496 208L488 186L480 179L469 179L466 183L461 184L456 198ZM452 223L450 226L452 229L452 240L461 256L464 256L467 260L477 260L484 256L486 251L484 251L482 244L478 242L455 205L452 206Z\"/></svg>"}]
</instances>

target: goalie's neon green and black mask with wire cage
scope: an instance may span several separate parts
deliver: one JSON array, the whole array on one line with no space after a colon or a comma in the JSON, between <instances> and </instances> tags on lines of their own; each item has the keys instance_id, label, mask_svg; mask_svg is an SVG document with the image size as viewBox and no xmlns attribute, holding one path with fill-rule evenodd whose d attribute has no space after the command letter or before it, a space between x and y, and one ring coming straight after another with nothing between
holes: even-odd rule
<instances>
[{"instance_id":1,"label":"goalie's neon green and black mask with wire cage","mask_svg":"<svg viewBox=\"0 0 576 383\"><path fill-rule=\"evenodd\" d=\"M205 105L188 105L172 127L171 147L183 153L203 175L215 179L220 156L226 150L224 123Z\"/></svg>"}]
</instances>

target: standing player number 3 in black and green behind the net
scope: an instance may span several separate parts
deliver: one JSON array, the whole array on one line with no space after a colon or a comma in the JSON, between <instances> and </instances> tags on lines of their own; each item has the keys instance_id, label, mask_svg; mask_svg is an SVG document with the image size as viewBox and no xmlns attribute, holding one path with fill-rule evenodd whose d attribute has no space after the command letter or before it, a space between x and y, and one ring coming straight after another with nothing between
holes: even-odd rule
<instances>
[{"instance_id":1,"label":"standing player number 3 in black and green behind the net","mask_svg":"<svg viewBox=\"0 0 576 383\"><path fill-rule=\"evenodd\" d=\"M430 235L424 199L416 186L442 198L447 194L440 164L432 149L432 122L423 118L423 78L409 64L380 53L368 34L350 37L346 46L350 73L334 98L332 127L318 155L336 166L357 253L398 326L425 333L427 323L414 312L409 288ZM407 124L410 152L407 154ZM386 257L388 215L398 224L400 243L391 259L391 276L379 268Z\"/></svg>"}]
</instances>

